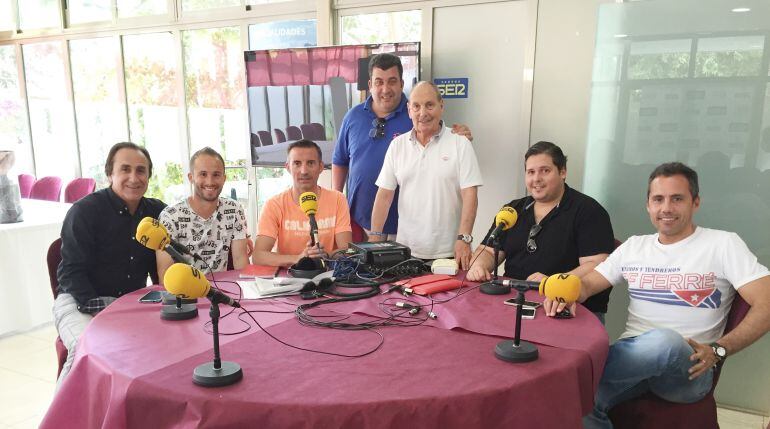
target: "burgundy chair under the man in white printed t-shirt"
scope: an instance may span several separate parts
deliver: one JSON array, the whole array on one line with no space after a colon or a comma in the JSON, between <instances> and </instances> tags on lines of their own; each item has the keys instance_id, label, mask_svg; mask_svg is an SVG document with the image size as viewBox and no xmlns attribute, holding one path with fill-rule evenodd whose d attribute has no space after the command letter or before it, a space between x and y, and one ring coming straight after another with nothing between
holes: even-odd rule
<instances>
[{"instance_id":1,"label":"burgundy chair under the man in white printed t-shirt","mask_svg":"<svg viewBox=\"0 0 770 429\"><path fill-rule=\"evenodd\" d=\"M751 306L740 295L736 294L727 316L725 333L738 326L750 308ZM648 392L639 398L616 405L609 412L610 420L612 420L613 426L619 429L654 427L719 429L714 389L717 387L721 370L722 363L717 366L714 372L714 383L711 386L711 391L698 402L678 404Z\"/></svg>"}]
</instances>

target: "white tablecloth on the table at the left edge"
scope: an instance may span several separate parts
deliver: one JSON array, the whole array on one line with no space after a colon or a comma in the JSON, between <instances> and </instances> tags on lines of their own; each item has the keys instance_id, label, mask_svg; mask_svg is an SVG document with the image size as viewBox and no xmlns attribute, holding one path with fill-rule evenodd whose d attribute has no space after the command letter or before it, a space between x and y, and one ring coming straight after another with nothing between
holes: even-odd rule
<instances>
[{"instance_id":1,"label":"white tablecloth on the table at the left edge","mask_svg":"<svg viewBox=\"0 0 770 429\"><path fill-rule=\"evenodd\" d=\"M72 204L21 200L24 221L0 224L0 336L53 320L46 253Z\"/></svg>"}]
</instances>

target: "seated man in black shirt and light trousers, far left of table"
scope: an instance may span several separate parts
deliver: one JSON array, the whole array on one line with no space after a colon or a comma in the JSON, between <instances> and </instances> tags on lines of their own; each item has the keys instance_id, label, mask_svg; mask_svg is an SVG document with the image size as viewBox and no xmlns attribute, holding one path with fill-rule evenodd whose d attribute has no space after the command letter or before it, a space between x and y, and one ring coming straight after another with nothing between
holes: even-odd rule
<instances>
[{"instance_id":1,"label":"seated man in black shirt and light trousers, far left of table","mask_svg":"<svg viewBox=\"0 0 770 429\"><path fill-rule=\"evenodd\" d=\"M157 278L155 252L134 238L139 221L157 218L165 207L160 200L144 198L152 176L150 154L134 143L118 143L107 155L104 172L110 187L73 204L62 225L53 312L68 354L57 388L93 316L117 297L145 287L148 274Z\"/></svg>"}]
</instances>

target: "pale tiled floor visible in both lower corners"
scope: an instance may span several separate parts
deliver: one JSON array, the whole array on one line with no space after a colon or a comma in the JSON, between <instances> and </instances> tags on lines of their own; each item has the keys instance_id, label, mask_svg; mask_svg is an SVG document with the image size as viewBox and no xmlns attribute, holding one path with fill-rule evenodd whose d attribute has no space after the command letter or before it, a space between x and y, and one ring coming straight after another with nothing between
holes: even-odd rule
<instances>
[{"instance_id":1,"label":"pale tiled floor visible in both lower corners","mask_svg":"<svg viewBox=\"0 0 770 429\"><path fill-rule=\"evenodd\" d=\"M52 325L0 339L0 429L36 428L56 385ZM9 388L10 387L10 388ZM765 429L770 418L718 409L722 429Z\"/></svg>"}]
</instances>

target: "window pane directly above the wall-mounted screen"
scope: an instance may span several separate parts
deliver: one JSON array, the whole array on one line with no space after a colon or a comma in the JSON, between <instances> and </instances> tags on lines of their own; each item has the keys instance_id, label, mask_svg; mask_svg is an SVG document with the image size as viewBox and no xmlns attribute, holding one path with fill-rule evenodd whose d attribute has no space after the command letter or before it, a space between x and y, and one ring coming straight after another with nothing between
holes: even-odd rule
<instances>
[{"instance_id":1,"label":"window pane directly above the wall-mounted screen","mask_svg":"<svg viewBox=\"0 0 770 429\"><path fill-rule=\"evenodd\" d=\"M370 13L340 18L340 44L419 42L422 11Z\"/></svg>"}]
</instances>

